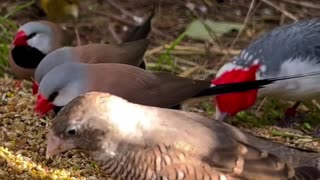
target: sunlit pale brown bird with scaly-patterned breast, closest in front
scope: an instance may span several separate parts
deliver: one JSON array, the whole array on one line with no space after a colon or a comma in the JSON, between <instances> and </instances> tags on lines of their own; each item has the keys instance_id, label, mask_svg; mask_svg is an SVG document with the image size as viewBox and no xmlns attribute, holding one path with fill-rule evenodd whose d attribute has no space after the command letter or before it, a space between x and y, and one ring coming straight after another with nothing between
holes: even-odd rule
<instances>
[{"instance_id":1,"label":"sunlit pale brown bird with scaly-patterned breast, closest in front","mask_svg":"<svg viewBox=\"0 0 320 180\"><path fill-rule=\"evenodd\" d=\"M237 128L192 112L130 103L91 92L53 119L46 157L89 151L111 178L317 179L312 166L294 168L249 144Z\"/></svg>"}]
</instances>

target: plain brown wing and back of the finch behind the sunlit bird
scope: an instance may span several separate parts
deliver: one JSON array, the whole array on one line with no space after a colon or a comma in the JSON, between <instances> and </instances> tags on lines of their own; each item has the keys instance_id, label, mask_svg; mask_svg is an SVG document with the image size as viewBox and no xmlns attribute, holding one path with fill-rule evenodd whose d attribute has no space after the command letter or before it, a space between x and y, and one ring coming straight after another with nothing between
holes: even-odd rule
<instances>
[{"instance_id":1,"label":"plain brown wing and back of the finch behind the sunlit bird","mask_svg":"<svg viewBox=\"0 0 320 180\"><path fill-rule=\"evenodd\" d=\"M152 73L125 64L96 64L91 67L90 90L109 92L143 105L171 107L210 86L210 81Z\"/></svg>"}]
</instances>

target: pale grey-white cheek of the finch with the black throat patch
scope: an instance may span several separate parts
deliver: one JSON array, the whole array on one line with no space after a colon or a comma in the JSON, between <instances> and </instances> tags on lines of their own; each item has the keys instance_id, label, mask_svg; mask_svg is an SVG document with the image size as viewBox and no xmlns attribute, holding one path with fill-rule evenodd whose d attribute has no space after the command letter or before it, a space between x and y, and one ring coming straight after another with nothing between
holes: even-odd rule
<instances>
[{"instance_id":1,"label":"pale grey-white cheek of the finch with the black throat patch","mask_svg":"<svg viewBox=\"0 0 320 180\"><path fill-rule=\"evenodd\" d=\"M49 36L39 33L28 40L28 44L31 47L37 48L43 54L48 54L51 50L51 40Z\"/></svg>"}]
</instances>

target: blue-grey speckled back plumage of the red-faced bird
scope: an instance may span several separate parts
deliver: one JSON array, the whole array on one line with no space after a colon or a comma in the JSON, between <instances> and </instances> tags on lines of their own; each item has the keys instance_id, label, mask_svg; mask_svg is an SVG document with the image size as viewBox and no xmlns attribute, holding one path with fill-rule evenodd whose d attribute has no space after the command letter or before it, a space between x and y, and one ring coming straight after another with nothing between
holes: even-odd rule
<instances>
[{"instance_id":1,"label":"blue-grey speckled back plumage of the red-faced bird","mask_svg":"<svg viewBox=\"0 0 320 180\"><path fill-rule=\"evenodd\" d=\"M290 59L315 60L320 63L320 19L299 21L278 27L254 42L234 60L240 66L251 66L255 60L266 66L265 77L279 74L281 64ZM320 68L320 64L319 64Z\"/></svg>"}]
</instances>

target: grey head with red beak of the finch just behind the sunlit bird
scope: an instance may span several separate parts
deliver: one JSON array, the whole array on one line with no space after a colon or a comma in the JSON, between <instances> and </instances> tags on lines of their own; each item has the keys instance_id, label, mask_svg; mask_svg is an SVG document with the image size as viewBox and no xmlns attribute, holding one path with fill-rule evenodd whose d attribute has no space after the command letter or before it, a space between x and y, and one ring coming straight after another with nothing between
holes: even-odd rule
<instances>
[{"instance_id":1,"label":"grey head with red beak of the finch just behind the sunlit bird","mask_svg":"<svg viewBox=\"0 0 320 180\"><path fill-rule=\"evenodd\" d=\"M85 93L86 76L81 64L67 63L55 67L41 80L35 111L47 114L55 107L63 107ZM36 83L34 83L36 87Z\"/></svg>"}]
</instances>

